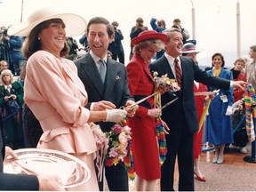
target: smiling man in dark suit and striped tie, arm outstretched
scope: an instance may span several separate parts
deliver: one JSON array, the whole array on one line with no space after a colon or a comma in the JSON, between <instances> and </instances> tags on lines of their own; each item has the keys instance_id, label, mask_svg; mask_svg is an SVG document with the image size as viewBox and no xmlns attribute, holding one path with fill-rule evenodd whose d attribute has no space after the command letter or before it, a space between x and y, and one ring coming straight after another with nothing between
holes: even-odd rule
<instances>
[{"instance_id":1,"label":"smiling man in dark suit and striped tie, arm outstretched","mask_svg":"<svg viewBox=\"0 0 256 192\"><path fill-rule=\"evenodd\" d=\"M170 132L166 134L167 154L166 160L162 165L161 190L171 191L173 189L173 173L176 156L178 156L179 164L179 190L193 191L194 188L194 163L193 163L193 143L194 132L198 130L198 122L196 116L196 104L194 99L194 80L212 87L228 89L231 87L239 87L245 82L230 82L226 79L208 76L202 71L195 62L188 57L180 56L182 53L182 35L180 29L171 28L165 30L168 36L165 43L165 53L158 60L149 64L150 71L157 71L158 76L168 75L169 78L175 79L174 60L178 60L181 68L181 90L171 95L164 93L162 95L162 104L179 97L167 108L162 111L162 118L169 126Z\"/></svg>"}]
</instances>

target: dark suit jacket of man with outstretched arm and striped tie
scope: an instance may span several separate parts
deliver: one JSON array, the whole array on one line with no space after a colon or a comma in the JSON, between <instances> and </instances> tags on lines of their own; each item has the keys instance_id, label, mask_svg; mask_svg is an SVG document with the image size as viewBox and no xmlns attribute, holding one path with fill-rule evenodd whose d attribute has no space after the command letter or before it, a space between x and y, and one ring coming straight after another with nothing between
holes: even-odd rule
<instances>
[{"instance_id":1,"label":"dark suit jacket of man with outstretched arm and striped tie","mask_svg":"<svg viewBox=\"0 0 256 192\"><path fill-rule=\"evenodd\" d=\"M195 64L195 62L188 57L180 56L181 70L182 70L182 93L177 93L180 97L179 100L173 102L168 108L163 110L163 120L166 124L175 125L177 119L180 118L180 103L185 113L186 123L190 132L196 132L198 130L198 122L196 115L196 104L194 98L194 80L209 86L219 87L222 89L228 89L230 82L226 79L221 79L214 76L208 76L207 73ZM172 68L163 55L160 59L149 64L150 71L157 71L158 76L163 76L166 73L169 78L174 78ZM170 93L164 93L162 95L162 105L174 99L176 96L171 96ZM179 112L180 111L180 112Z\"/></svg>"}]
</instances>

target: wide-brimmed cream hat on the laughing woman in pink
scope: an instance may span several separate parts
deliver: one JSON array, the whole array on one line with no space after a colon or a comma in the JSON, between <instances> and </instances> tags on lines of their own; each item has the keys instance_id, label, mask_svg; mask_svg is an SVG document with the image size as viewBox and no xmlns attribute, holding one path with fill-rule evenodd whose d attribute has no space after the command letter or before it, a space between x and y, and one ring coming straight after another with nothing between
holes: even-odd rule
<instances>
[{"instance_id":1,"label":"wide-brimmed cream hat on the laughing woman in pink","mask_svg":"<svg viewBox=\"0 0 256 192\"><path fill-rule=\"evenodd\" d=\"M33 12L28 17L27 23L18 23L12 25L8 29L8 35L10 36L28 36L33 28L45 20L51 20L58 18L63 20L66 25L66 36L79 36L84 33L86 28L86 21L83 17L75 13L64 13L60 9L56 8L43 8Z\"/></svg>"}]
</instances>

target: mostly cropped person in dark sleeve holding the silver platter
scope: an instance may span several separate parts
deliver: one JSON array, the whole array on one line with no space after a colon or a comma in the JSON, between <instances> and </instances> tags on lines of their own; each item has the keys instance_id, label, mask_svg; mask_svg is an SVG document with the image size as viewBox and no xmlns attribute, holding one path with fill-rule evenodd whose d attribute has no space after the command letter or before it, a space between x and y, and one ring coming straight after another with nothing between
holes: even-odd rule
<instances>
[{"instance_id":1,"label":"mostly cropped person in dark sleeve holding the silver platter","mask_svg":"<svg viewBox=\"0 0 256 192\"><path fill-rule=\"evenodd\" d=\"M26 174L8 174L4 173L4 156L17 158L11 148L5 149L3 118L0 113L0 190L65 190L60 186L56 176L37 176Z\"/></svg>"}]
</instances>

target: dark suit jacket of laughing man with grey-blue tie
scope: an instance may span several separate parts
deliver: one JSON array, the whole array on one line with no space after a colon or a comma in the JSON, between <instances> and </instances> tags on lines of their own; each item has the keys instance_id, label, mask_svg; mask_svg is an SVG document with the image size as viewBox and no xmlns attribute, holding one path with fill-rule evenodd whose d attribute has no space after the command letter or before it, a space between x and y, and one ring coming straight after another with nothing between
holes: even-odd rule
<instances>
[{"instance_id":1,"label":"dark suit jacket of laughing man with grey-blue tie","mask_svg":"<svg viewBox=\"0 0 256 192\"><path fill-rule=\"evenodd\" d=\"M111 101L116 105L116 108L120 108L125 105L127 100L133 100L128 88L127 71L123 64L108 58L105 84L102 84L99 70L90 53L86 53L83 57L75 60L75 63L78 76L88 93L86 108L90 108L92 102L100 100ZM112 123L100 122L100 128L103 132L109 132L113 125Z\"/></svg>"}]
</instances>

